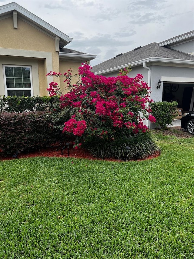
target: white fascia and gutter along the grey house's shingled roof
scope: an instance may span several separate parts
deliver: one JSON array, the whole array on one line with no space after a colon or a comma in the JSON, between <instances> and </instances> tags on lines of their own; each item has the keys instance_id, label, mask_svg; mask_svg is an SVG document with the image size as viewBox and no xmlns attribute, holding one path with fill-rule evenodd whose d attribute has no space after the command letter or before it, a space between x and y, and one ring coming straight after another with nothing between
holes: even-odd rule
<instances>
[{"instance_id":1,"label":"white fascia and gutter along the grey house's shingled roof","mask_svg":"<svg viewBox=\"0 0 194 259\"><path fill-rule=\"evenodd\" d=\"M98 71L95 72L95 75L100 75L100 74L106 74L106 73L110 73L110 72L115 72L117 70L121 70L127 66L138 66L138 65L142 65L143 63L148 63L148 62L159 62L159 63L178 63L178 64L188 64L188 65L193 65L194 62L193 60L179 60L179 59L169 59L169 58L160 58L160 57L149 57L143 60L138 60L132 63L127 63L127 64L123 64L121 66L115 66L106 70L102 70L102 71ZM146 64L147 65L147 64Z\"/></svg>"}]
</instances>

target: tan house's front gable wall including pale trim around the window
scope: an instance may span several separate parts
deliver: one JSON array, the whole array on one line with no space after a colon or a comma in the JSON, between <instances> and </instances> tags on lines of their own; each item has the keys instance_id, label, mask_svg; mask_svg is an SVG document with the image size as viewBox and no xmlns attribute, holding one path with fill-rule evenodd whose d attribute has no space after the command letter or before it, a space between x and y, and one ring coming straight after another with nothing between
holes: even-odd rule
<instances>
[{"instance_id":1,"label":"tan house's front gable wall including pale trim around the window","mask_svg":"<svg viewBox=\"0 0 194 259\"><path fill-rule=\"evenodd\" d=\"M59 71L59 53L55 51L55 39L36 29L28 22L19 19L18 28L13 28L13 17L0 20L0 62L2 63L2 54L5 53L4 63L7 65L30 65L33 73L33 95L48 95L46 88L51 78L46 79L46 73L50 71ZM14 51L15 50L15 51ZM17 50L17 51L16 51ZM30 51L28 56L26 51ZM44 54L45 53L45 54ZM50 54L49 54L50 53ZM25 57L17 60L18 56ZM32 57L30 60L29 56ZM17 57L15 59L15 57ZM14 63L13 63L14 62ZM23 63L21 63L23 62ZM36 67L33 68L36 63ZM38 64L38 65L37 65ZM3 74L2 65L0 66L0 75ZM36 75L34 74L36 71ZM35 76L38 80L34 80ZM60 84L59 78L56 81ZM0 85L4 86L3 77L0 77ZM39 90L37 90L40 87ZM0 94L5 94L5 88L0 88Z\"/></svg>"}]
</instances>

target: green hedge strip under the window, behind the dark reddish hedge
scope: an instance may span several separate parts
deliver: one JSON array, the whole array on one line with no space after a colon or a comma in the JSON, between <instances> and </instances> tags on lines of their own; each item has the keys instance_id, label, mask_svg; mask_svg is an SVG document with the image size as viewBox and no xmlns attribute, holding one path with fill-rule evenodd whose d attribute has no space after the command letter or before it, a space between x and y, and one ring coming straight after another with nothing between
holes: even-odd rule
<instances>
[{"instance_id":1,"label":"green hedge strip under the window, behind the dark reddish hedge","mask_svg":"<svg viewBox=\"0 0 194 259\"><path fill-rule=\"evenodd\" d=\"M59 96L0 96L0 111L52 111L59 109Z\"/></svg>"}]
</instances>

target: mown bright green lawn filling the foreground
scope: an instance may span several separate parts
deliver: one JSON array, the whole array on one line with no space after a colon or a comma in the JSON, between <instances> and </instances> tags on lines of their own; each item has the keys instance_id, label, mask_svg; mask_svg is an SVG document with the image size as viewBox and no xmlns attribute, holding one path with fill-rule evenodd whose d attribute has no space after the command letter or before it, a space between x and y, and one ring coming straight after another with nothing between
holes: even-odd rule
<instances>
[{"instance_id":1,"label":"mown bright green lawn filling the foreground","mask_svg":"<svg viewBox=\"0 0 194 259\"><path fill-rule=\"evenodd\" d=\"M194 138L158 158L0 162L0 258L194 258Z\"/></svg>"}]
</instances>

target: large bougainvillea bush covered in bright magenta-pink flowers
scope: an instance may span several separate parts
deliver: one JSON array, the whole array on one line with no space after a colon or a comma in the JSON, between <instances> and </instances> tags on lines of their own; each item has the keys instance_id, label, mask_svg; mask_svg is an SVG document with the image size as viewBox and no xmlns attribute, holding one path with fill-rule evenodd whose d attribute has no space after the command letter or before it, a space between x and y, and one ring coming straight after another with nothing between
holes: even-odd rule
<instances>
[{"instance_id":1,"label":"large bougainvillea bush covered in bright magenta-pink flowers","mask_svg":"<svg viewBox=\"0 0 194 259\"><path fill-rule=\"evenodd\" d=\"M121 135L146 132L145 118L155 122L149 103L149 87L143 76L128 77L129 69L121 70L117 77L94 75L92 67L82 64L79 67L79 81L71 84L72 70L66 78L69 92L60 94L60 107L72 107L76 111L69 121L65 121L63 132L75 135L75 146L81 145L90 137L114 139ZM50 72L47 76L62 76ZM50 95L59 94L57 83L50 83Z\"/></svg>"}]
</instances>

